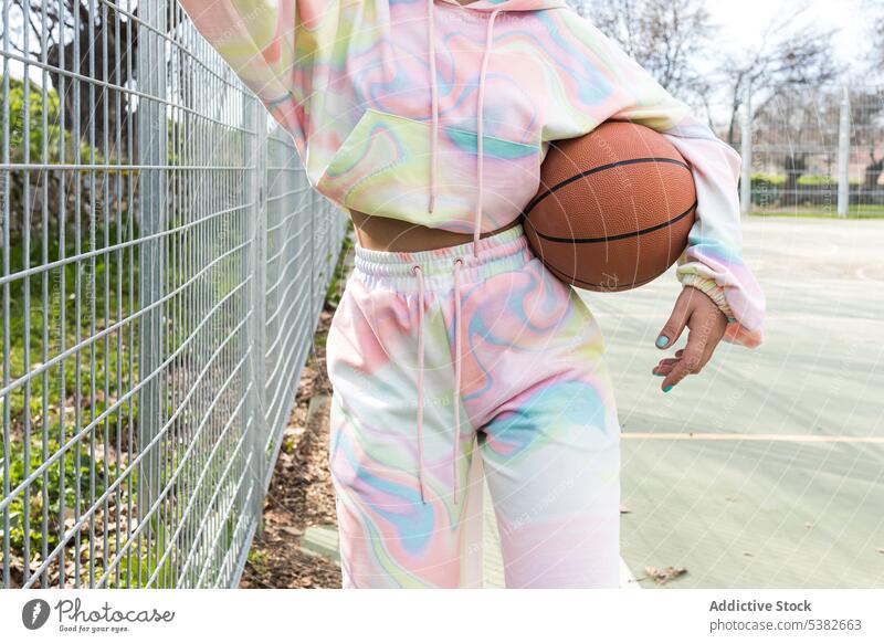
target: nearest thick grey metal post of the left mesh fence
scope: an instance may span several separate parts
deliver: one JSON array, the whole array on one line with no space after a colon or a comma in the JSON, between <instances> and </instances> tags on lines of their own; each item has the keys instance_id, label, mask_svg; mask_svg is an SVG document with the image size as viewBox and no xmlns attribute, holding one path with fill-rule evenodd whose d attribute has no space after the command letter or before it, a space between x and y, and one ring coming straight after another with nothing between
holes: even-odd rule
<instances>
[{"instance_id":1,"label":"nearest thick grey metal post of the left mesh fence","mask_svg":"<svg viewBox=\"0 0 884 643\"><path fill-rule=\"evenodd\" d=\"M166 54L159 34L166 32L166 10L161 0L146 0L139 6L138 23L138 179L139 230L145 240L138 254L138 306L144 310L138 325L138 451L159 433L162 425L161 382L157 370L162 363L162 231L168 164L166 137ZM156 31L155 31L156 30ZM150 96L150 98L146 98ZM159 496L160 457L157 446L149 447L141 461L138 477L139 523ZM150 530L147 530L148 542Z\"/></svg>"}]
</instances>

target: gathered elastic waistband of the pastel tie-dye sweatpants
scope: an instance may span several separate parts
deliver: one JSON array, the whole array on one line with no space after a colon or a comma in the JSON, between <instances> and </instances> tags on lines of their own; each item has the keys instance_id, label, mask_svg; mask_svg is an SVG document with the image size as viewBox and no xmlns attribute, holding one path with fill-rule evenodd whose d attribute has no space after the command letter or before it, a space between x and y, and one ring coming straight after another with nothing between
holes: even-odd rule
<instances>
[{"instance_id":1,"label":"gathered elastic waistband of the pastel tie-dye sweatpants","mask_svg":"<svg viewBox=\"0 0 884 643\"><path fill-rule=\"evenodd\" d=\"M417 291L414 266L421 268L428 291L443 291L453 285L454 262L461 260L461 278L469 282L514 271L528 263L534 254L522 223L480 239L478 256L473 256L474 242L439 250L388 252L356 246L354 274L367 286L387 287L398 292Z\"/></svg>"}]
</instances>

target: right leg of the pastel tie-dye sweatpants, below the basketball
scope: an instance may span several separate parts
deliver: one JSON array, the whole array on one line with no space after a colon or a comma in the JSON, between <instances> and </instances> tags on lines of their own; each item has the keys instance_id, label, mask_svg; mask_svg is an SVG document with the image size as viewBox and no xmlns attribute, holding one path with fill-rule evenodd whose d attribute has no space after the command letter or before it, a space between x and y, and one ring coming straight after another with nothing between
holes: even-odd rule
<instances>
[{"instance_id":1,"label":"right leg of the pastel tie-dye sweatpants, below the basketball","mask_svg":"<svg viewBox=\"0 0 884 643\"><path fill-rule=\"evenodd\" d=\"M462 399L506 586L618 588L620 424L601 330L539 260L470 291Z\"/></svg>"}]
</instances>

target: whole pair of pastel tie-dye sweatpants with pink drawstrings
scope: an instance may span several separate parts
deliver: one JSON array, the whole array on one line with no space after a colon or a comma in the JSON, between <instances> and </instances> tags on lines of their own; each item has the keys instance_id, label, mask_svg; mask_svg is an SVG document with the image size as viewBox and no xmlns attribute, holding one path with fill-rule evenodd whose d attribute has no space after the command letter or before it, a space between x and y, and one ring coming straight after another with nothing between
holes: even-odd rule
<instances>
[{"instance_id":1,"label":"whole pair of pastel tie-dye sweatpants with pink drawstrings","mask_svg":"<svg viewBox=\"0 0 884 643\"><path fill-rule=\"evenodd\" d=\"M520 225L477 243L356 249L327 340L344 587L481 587L484 475L507 587L617 588L599 326Z\"/></svg>"}]
</instances>

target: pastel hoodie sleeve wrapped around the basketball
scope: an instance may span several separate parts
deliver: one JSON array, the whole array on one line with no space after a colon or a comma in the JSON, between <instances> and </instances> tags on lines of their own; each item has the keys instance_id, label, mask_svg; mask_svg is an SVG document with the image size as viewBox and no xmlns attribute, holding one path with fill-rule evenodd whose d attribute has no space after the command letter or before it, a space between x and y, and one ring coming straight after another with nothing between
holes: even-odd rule
<instances>
[{"instance_id":1,"label":"pastel hoodie sleeve wrapped around the basketball","mask_svg":"<svg viewBox=\"0 0 884 643\"><path fill-rule=\"evenodd\" d=\"M727 341L758 346L765 296L743 260L739 155L591 22L570 9L557 19L556 64L571 88L558 92L570 98L558 102L561 112L545 138L581 136L608 119L639 123L666 137L691 167L697 192L696 221L676 277L709 295L727 316Z\"/></svg>"}]
</instances>

